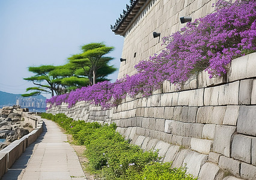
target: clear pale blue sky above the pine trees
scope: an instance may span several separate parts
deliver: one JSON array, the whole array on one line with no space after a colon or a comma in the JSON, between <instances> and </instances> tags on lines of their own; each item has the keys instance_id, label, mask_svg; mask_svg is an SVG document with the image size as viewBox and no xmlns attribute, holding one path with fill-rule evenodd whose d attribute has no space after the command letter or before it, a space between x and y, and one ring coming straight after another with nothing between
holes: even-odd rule
<instances>
[{"instance_id":1,"label":"clear pale blue sky above the pine trees","mask_svg":"<svg viewBox=\"0 0 256 180\"><path fill-rule=\"evenodd\" d=\"M28 67L66 64L88 43L114 46L108 56L119 68L124 37L110 25L126 4L129 0L0 0L0 91L26 93L34 86L23 80L34 75ZM115 82L117 75L108 78Z\"/></svg>"}]
</instances>

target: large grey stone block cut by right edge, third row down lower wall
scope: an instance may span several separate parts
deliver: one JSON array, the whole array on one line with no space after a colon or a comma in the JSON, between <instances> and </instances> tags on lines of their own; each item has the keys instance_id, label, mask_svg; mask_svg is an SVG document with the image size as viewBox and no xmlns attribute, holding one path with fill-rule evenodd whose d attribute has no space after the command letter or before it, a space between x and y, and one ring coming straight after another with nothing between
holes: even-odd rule
<instances>
[{"instance_id":1,"label":"large grey stone block cut by right edge, third row down lower wall","mask_svg":"<svg viewBox=\"0 0 256 180\"><path fill-rule=\"evenodd\" d=\"M240 106L237 133L256 136L256 106Z\"/></svg>"}]
</instances>

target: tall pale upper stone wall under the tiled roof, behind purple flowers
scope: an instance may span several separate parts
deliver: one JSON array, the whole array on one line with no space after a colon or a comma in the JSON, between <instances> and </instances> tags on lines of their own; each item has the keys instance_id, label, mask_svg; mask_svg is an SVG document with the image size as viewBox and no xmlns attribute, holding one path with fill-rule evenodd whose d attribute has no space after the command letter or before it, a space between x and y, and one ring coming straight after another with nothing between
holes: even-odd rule
<instances>
[{"instance_id":1,"label":"tall pale upper stone wall under the tiled roof, behind purple flowers","mask_svg":"<svg viewBox=\"0 0 256 180\"><path fill-rule=\"evenodd\" d=\"M162 37L171 35L186 24L180 23L180 17L190 16L192 21L212 13L212 4L216 0L148 0L136 14L124 35L124 45L118 79L126 74L136 72L134 66L142 59L160 52ZM153 32L160 33L159 38L153 38ZM136 53L136 55L135 55Z\"/></svg>"}]
</instances>

